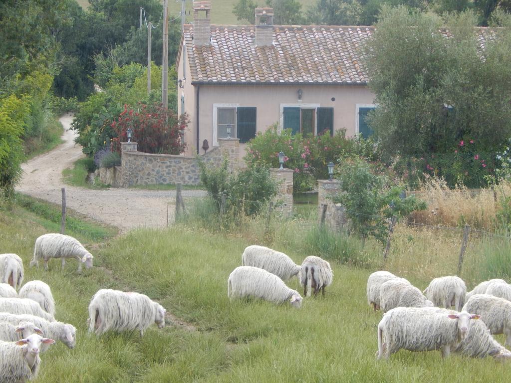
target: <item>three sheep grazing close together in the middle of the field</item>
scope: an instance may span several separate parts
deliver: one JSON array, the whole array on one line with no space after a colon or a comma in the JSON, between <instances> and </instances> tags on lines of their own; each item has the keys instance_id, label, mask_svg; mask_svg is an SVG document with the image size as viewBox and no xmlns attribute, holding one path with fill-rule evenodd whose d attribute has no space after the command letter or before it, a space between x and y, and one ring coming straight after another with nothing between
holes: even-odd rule
<instances>
[{"instance_id":1,"label":"three sheep grazing close together in the middle of the field","mask_svg":"<svg viewBox=\"0 0 511 383\"><path fill-rule=\"evenodd\" d=\"M324 288L332 283L334 274L329 262L316 256L308 256L301 266L284 253L264 246L248 246L241 256L241 263L229 275L227 296L233 298L254 297L274 303L289 302L301 307L303 298L290 289L284 280L297 276L304 286L304 296L324 295Z\"/></svg>"}]
</instances>

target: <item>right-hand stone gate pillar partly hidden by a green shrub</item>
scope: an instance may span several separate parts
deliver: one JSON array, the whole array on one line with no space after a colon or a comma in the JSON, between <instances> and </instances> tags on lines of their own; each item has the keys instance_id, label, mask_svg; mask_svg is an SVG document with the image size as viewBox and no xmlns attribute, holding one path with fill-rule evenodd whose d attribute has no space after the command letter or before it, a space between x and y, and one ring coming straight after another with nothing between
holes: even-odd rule
<instances>
[{"instance_id":1,"label":"right-hand stone gate pillar partly hidden by a green shrub","mask_svg":"<svg viewBox=\"0 0 511 383\"><path fill-rule=\"evenodd\" d=\"M335 196L341 191L338 180L318 180L318 212L319 219L323 211L323 205L327 205L324 224L334 231L344 229L348 223L345 210L341 204L335 204L329 197Z\"/></svg>"}]
</instances>

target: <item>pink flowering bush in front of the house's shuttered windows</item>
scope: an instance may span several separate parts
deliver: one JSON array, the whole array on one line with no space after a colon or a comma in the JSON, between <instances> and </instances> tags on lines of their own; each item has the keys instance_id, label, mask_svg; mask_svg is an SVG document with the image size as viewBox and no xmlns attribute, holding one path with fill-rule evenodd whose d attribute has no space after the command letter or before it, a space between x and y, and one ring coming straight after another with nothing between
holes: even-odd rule
<instances>
[{"instance_id":1,"label":"pink flowering bush in front of the house's shuttered windows","mask_svg":"<svg viewBox=\"0 0 511 383\"><path fill-rule=\"evenodd\" d=\"M346 138L344 131L334 136L320 134L306 136L291 134L291 130L277 131L277 125L258 133L247 143L245 161L247 164L264 162L270 167L279 167L278 153L286 155L284 167L294 171L294 192L303 192L316 187L316 180L327 179L329 162L337 163L346 154L360 155L374 159L376 149L370 140Z\"/></svg>"}]
</instances>

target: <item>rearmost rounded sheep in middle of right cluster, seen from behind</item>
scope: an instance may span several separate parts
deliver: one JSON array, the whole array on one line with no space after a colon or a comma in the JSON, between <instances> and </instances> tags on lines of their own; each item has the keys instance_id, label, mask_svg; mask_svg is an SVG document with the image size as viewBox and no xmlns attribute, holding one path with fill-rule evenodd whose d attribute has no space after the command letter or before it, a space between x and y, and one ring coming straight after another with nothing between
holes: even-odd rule
<instances>
[{"instance_id":1,"label":"rearmost rounded sheep in middle of right cluster, seen from behind","mask_svg":"<svg viewBox=\"0 0 511 383\"><path fill-rule=\"evenodd\" d=\"M445 308L454 306L456 310L461 311L467 286L463 279L456 276L439 277L434 278L423 293L435 306Z\"/></svg>"}]
</instances>

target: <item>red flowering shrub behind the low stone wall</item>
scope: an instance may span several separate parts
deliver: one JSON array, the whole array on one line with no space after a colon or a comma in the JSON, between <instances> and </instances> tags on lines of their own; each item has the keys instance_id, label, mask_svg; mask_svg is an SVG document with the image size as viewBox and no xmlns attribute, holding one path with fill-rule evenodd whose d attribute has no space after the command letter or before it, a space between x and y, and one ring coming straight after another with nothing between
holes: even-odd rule
<instances>
[{"instance_id":1,"label":"red flowering shrub behind the low stone wall","mask_svg":"<svg viewBox=\"0 0 511 383\"><path fill-rule=\"evenodd\" d=\"M160 103L140 104L136 109L124 105L124 110L111 124L115 135L111 140L112 151L121 153L121 142L128 140L126 131L131 128L131 141L137 142L139 152L180 154L186 147L181 137L188 123L186 114L177 116Z\"/></svg>"}]
</instances>

